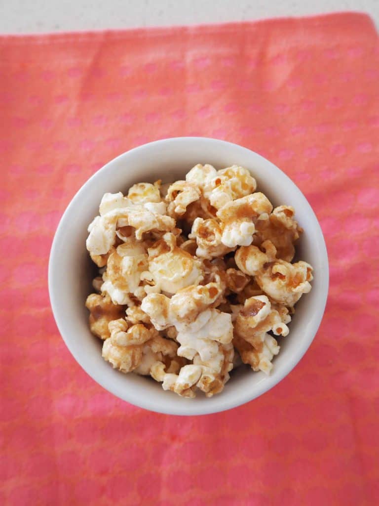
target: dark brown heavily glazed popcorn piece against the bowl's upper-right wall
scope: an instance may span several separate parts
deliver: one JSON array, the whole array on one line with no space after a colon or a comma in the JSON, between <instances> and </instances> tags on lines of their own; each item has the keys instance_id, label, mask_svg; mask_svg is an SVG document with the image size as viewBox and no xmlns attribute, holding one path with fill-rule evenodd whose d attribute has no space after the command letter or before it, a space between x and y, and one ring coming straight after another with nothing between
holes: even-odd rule
<instances>
[{"instance_id":1,"label":"dark brown heavily glazed popcorn piece against the bowl's upper-right wall","mask_svg":"<svg viewBox=\"0 0 379 506\"><path fill-rule=\"evenodd\" d=\"M295 255L295 241L302 229L294 220L295 209L289 205L275 207L268 220L256 224L259 241L270 240L277 250L277 258L291 262Z\"/></svg>"}]
</instances>

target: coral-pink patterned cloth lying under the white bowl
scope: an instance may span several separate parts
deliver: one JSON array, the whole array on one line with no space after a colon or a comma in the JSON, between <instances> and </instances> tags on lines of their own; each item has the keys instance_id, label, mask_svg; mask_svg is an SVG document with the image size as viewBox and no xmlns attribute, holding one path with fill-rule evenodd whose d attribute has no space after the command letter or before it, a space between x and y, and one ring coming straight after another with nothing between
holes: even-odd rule
<instances>
[{"instance_id":1,"label":"coral-pink patterned cloth lying under the white bowl","mask_svg":"<svg viewBox=\"0 0 379 506\"><path fill-rule=\"evenodd\" d=\"M3 36L0 74L0 503L378 504L371 20ZM299 365L260 398L198 417L148 412L94 383L59 335L46 281L54 231L87 178L177 136L277 164L313 206L330 260L325 316Z\"/></svg>"}]
</instances>

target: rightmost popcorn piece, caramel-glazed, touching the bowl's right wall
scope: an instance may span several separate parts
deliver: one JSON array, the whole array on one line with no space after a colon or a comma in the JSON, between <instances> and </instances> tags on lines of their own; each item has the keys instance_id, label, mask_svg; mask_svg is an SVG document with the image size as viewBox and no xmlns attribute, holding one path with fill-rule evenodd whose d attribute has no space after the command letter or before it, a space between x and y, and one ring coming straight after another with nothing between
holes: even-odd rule
<instances>
[{"instance_id":1,"label":"rightmost popcorn piece, caramel-glazed, touching the bowl's right wall","mask_svg":"<svg viewBox=\"0 0 379 506\"><path fill-rule=\"evenodd\" d=\"M311 290L312 271L306 262L277 260L259 271L256 281L273 301L293 307L303 293Z\"/></svg>"}]
</instances>

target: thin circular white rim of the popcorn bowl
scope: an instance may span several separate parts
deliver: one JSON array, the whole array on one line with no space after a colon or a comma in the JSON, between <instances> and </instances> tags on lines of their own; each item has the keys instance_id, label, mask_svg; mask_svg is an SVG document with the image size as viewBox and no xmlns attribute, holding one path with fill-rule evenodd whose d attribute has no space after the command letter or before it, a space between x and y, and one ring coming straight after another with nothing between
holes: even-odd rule
<instances>
[{"instance_id":1,"label":"thin circular white rim of the popcorn bowl","mask_svg":"<svg viewBox=\"0 0 379 506\"><path fill-rule=\"evenodd\" d=\"M64 228L66 226L66 221L70 215L71 208L75 206L76 201L78 199L80 199L82 193L86 191L87 186L90 184L90 182L92 180L98 178L100 174L107 172L109 170L110 166L114 165L116 163L116 161L118 161L124 157L127 157L131 153L138 153L138 151L145 150L148 147L151 148L153 146L159 146L159 145L167 144L167 143L180 143L180 142L187 142L187 141L210 142L210 143L217 143L217 144L222 143L222 144L227 145L233 149L238 148L240 150L245 150L245 151L249 152L250 154L253 154L254 156L256 156L258 159L261 159L261 161L263 161L265 164L271 165L271 167L274 168L276 171L279 171L281 173L281 176L286 178L288 180L288 182L291 183L291 185L293 185L293 187L295 187L296 191L303 197L305 204L308 206L308 211L310 212L310 215L312 216L312 218L314 220L314 225L316 226L316 228L318 228L318 232L319 232L318 239L320 239L320 241L321 241L318 246L319 246L319 249L321 250L321 254L323 257L324 266L325 266L325 273L322 276L322 279L320 279L320 282L322 284L322 293L321 293L322 297L320 297L320 300L318 303L318 307L319 307L318 318L313 322L313 325L308 330L307 333L309 333L310 338L303 345L302 350L301 350L301 354L298 355L297 360L289 360L285 365L282 366L280 371L276 371L275 374L267 376L265 378L264 382L260 382L260 384L261 384L260 388L254 390L254 392L250 392L250 393L249 392L248 393L242 392L240 395L235 396L234 398L225 399L224 402L222 402L223 399L221 399L222 398L222 393L221 393L220 394L220 402L216 408L214 406L213 407L207 406L206 403L201 403L201 404L195 404L195 405L189 404L188 409L186 409L186 410L180 409L179 407L177 410L176 409L172 410L172 409L165 409L165 406L162 403L159 403L159 404L154 403L154 402L152 403L150 400L145 401L145 399L143 397L133 395L133 393L128 391L127 389L125 389L126 395L121 395L120 392L115 391L116 389L112 389L112 386L109 385L106 381L103 381L101 374L97 373L97 370L95 367L93 367L93 369L89 369L87 367L87 365L84 364L84 360L82 359L81 356L79 356L78 353L76 353L76 350L71 345L70 339L68 338L67 335L65 335L66 332L64 331L63 315L59 310L59 303L57 300L58 297L57 297L56 290L54 288L54 278L55 278L55 271L56 271L56 267L54 264L55 264L55 259L57 257L57 253L58 253L59 238L62 234L62 231L64 230ZM304 357L305 353L307 352L308 348L310 347L310 345L312 344L312 342L315 338L315 335L316 335L317 330L320 326L320 323L322 321L323 314L325 311L325 306L326 306L326 301L327 301L327 296L328 296L328 286L329 286L329 266L328 266L328 255L327 255L325 239L323 237L320 224L319 224L318 219L313 211L312 206L310 205L310 203L308 202L308 200L306 199L305 195L302 193L300 188L294 183L294 181L289 176L287 176L287 174L285 174L283 171L281 171L280 168L277 167L270 160L268 160L264 156L260 155L259 153L255 152L249 148L243 147L239 144L220 140L220 139L213 139L213 138L209 138L209 137L196 137L196 136L194 136L194 137L190 137L190 136L170 137L170 138L160 139L157 141L142 144L142 145L132 148L128 151L125 151L124 153L121 153L120 155L116 156L112 160L108 161L105 165L103 165L94 174L92 174L92 176L90 176L82 184L82 186L79 188L79 190L75 193L75 195L73 196L73 198L71 199L71 201L67 205L67 207L66 207L66 209L59 221L58 227L57 227L56 232L54 234L54 239L52 242L51 250L50 250L49 266L48 266L49 297L50 297L50 304L51 304L52 312L53 312L53 315L55 318L55 322L57 324L58 330L61 334L61 337L62 337L64 343L66 344L68 350L70 351L70 353L72 354L74 359L81 366L81 368L96 383L101 385L105 390L107 390L111 394L115 395L116 397L119 397L120 399L122 399L126 402L129 402L130 404L133 404L135 406L138 406L138 407L150 410L150 411L155 411L155 412L164 413L164 414L173 414L173 415L192 416L192 415L211 414L211 413L226 411L226 410L232 409L234 407L241 406L241 405L261 396L262 394L266 393L268 390L273 388L275 385L280 383L282 381L282 379L285 378L291 372L291 370L301 361L301 359ZM192 402L196 401L196 399L193 399L191 401Z\"/></svg>"}]
</instances>

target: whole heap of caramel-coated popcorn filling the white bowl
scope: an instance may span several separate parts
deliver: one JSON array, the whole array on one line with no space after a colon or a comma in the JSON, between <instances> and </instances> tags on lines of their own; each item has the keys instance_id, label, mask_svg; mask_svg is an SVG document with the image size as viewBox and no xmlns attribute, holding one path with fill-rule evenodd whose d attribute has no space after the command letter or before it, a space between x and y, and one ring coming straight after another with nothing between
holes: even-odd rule
<instances>
[{"instance_id":1,"label":"whole heap of caramel-coated popcorn filling the white bowl","mask_svg":"<svg viewBox=\"0 0 379 506\"><path fill-rule=\"evenodd\" d=\"M270 373L313 270L291 263L295 209L256 189L244 167L198 164L103 196L86 241L98 293L85 305L115 369L188 398L220 393L241 363Z\"/></svg>"}]
</instances>

